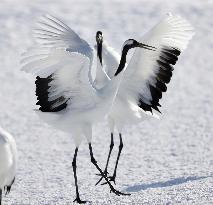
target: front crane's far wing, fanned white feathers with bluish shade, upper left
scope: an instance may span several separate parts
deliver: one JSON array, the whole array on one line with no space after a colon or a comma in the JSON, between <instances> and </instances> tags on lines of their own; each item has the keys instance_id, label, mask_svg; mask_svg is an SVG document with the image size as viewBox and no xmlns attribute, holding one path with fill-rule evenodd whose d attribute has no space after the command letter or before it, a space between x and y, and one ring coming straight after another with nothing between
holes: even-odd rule
<instances>
[{"instance_id":1,"label":"front crane's far wing, fanned white feathers with bluish shade, upper left","mask_svg":"<svg viewBox=\"0 0 213 205\"><path fill-rule=\"evenodd\" d=\"M69 26L56 17L45 15L34 29L36 41L49 48L65 48L87 56L92 62L93 49L81 39Z\"/></svg>"}]
</instances>

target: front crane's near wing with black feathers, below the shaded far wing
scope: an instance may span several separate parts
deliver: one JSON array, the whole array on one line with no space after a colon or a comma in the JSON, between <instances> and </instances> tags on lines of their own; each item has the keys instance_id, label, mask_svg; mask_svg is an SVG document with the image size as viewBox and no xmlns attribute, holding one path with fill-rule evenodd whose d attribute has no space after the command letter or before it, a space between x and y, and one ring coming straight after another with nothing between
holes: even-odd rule
<instances>
[{"instance_id":1,"label":"front crane's near wing with black feathers, below the shaded far wing","mask_svg":"<svg viewBox=\"0 0 213 205\"><path fill-rule=\"evenodd\" d=\"M46 58L27 63L22 70L37 76L37 105L42 112L94 106L97 95L88 77L88 57L54 49Z\"/></svg>"}]
</instances>

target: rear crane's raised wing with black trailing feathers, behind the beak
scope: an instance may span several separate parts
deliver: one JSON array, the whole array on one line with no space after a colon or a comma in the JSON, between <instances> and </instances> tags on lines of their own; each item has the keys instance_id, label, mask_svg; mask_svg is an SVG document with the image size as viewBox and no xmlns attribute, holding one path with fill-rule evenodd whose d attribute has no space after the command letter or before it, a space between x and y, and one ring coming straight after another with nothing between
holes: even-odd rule
<instances>
[{"instance_id":1,"label":"rear crane's raised wing with black trailing feathers, behind the beak","mask_svg":"<svg viewBox=\"0 0 213 205\"><path fill-rule=\"evenodd\" d=\"M159 111L159 99L167 90L173 65L193 36L192 26L179 16L168 15L141 42L157 51L137 48L124 73L118 95L132 100L145 111Z\"/></svg>"}]
</instances>

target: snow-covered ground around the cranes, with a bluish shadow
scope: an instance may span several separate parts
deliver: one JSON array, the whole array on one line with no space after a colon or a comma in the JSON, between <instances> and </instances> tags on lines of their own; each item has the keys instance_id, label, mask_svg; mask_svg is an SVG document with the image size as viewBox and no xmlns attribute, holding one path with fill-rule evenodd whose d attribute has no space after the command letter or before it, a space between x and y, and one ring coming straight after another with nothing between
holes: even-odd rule
<instances>
[{"instance_id":1,"label":"snow-covered ground around the cranes, with a bluish shadow","mask_svg":"<svg viewBox=\"0 0 213 205\"><path fill-rule=\"evenodd\" d=\"M188 19L196 35L175 66L161 101L162 119L124 131L115 196L98 180L86 141L78 155L82 199L91 204L213 204L213 1L212 0L1 0L0 123L19 150L16 183L8 205L67 205L75 197L71 136L43 124L33 112L33 78L20 71L20 54L32 44L37 18L51 13L91 44L95 32L120 50L127 38L139 38L165 13ZM94 129L94 153L103 167L110 142L106 122ZM116 149L110 170L114 167Z\"/></svg>"}]
</instances>

